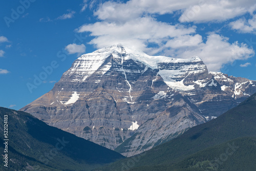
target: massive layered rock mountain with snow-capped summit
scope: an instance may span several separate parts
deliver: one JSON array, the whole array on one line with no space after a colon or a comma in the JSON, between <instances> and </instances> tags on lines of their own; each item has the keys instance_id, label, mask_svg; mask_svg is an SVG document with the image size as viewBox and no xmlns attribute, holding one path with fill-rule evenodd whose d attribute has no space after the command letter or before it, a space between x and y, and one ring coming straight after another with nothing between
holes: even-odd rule
<instances>
[{"instance_id":1,"label":"massive layered rock mountain with snow-capped summit","mask_svg":"<svg viewBox=\"0 0 256 171\"><path fill-rule=\"evenodd\" d=\"M199 57L149 56L114 45L85 54L21 111L132 156L237 106L256 81L208 72Z\"/></svg>"}]
</instances>

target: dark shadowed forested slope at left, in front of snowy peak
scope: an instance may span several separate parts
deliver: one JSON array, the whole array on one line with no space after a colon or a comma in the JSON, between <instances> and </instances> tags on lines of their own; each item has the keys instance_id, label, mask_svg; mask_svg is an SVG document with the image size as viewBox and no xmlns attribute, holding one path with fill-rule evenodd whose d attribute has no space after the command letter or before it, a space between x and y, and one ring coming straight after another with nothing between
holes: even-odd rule
<instances>
[{"instance_id":1,"label":"dark shadowed forested slope at left, in front of snowy peak","mask_svg":"<svg viewBox=\"0 0 256 171\"><path fill-rule=\"evenodd\" d=\"M8 141L7 147L0 146L2 155L8 155L8 170L91 170L124 158L108 148L49 126L28 113L0 108L0 116L3 134L4 126L8 127L7 137L0 139L1 144ZM1 170L7 168L4 157L0 159Z\"/></svg>"}]
</instances>

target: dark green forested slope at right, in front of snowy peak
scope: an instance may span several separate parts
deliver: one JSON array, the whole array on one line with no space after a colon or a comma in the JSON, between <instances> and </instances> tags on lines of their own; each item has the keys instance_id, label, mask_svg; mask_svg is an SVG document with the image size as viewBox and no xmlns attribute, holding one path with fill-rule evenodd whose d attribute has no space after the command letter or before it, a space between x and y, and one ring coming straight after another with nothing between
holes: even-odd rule
<instances>
[{"instance_id":1,"label":"dark green forested slope at right, in front of snowy peak","mask_svg":"<svg viewBox=\"0 0 256 171\"><path fill-rule=\"evenodd\" d=\"M97 170L256 170L256 94L218 118Z\"/></svg>"}]
</instances>

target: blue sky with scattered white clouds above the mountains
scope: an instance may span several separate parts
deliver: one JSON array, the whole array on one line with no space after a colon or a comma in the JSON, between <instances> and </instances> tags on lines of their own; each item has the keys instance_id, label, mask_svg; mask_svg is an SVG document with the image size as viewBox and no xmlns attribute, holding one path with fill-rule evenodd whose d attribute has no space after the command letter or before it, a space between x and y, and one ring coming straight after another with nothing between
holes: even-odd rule
<instances>
[{"instance_id":1,"label":"blue sky with scattered white clouds above the mountains","mask_svg":"<svg viewBox=\"0 0 256 171\"><path fill-rule=\"evenodd\" d=\"M251 0L1 1L0 106L22 108L81 54L116 43L256 80L255 34Z\"/></svg>"}]
</instances>

